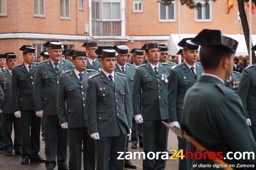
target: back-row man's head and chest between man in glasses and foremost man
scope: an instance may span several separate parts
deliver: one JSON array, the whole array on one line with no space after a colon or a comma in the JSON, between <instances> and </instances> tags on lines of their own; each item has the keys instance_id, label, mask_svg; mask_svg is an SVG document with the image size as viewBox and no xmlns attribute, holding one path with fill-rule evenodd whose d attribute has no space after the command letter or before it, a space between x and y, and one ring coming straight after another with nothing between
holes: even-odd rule
<instances>
[{"instance_id":1,"label":"back-row man's head and chest between man in glasses and foremost man","mask_svg":"<svg viewBox=\"0 0 256 170\"><path fill-rule=\"evenodd\" d=\"M82 47L86 47L86 53L88 55L88 62L86 68L101 71L101 64L97 59L97 54L94 52L98 49L98 43L85 42Z\"/></svg>"}]
</instances>

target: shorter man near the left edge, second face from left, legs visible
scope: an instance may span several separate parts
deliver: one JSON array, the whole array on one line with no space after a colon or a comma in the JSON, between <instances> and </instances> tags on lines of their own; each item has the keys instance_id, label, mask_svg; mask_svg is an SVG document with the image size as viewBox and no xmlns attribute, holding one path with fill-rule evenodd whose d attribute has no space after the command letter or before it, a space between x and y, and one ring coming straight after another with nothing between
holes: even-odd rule
<instances>
[{"instance_id":1,"label":"shorter man near the left edge, second face from left, legs visible","mask_svg":"<svg viewBox=\"0 0 256 170\"><path fill-rule=\"evenodd\" d=\"M5 99L1 105L2 127L3 127L3 142L6 156L12 156L14 148L16 155L22 155L21 149L21 118L16 118L13 112L11 81L13 67L16 65L16 55L6 54L5 71L0 72L1 87L5 94ZM14 129L14 143L12 142L12 127Z\"/></svg>"}]
</instances>

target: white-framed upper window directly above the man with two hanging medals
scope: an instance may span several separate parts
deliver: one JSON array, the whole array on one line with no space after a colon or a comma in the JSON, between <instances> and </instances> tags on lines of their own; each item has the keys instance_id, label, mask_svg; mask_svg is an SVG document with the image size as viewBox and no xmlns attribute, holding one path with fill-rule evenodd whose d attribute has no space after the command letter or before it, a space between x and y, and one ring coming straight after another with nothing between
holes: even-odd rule
<instances>
[{"instance_id":1,"label":"white-framed upper window directly above the man with two hanging medals","mask_svg":"<svg viewBox=\"0 0 256 170\"><path fill-rule=\"evenodd\" d=\"M160 22L176 21L176 2L173 1L170 5L159 5Z\"/></svg>"}]
</instances>

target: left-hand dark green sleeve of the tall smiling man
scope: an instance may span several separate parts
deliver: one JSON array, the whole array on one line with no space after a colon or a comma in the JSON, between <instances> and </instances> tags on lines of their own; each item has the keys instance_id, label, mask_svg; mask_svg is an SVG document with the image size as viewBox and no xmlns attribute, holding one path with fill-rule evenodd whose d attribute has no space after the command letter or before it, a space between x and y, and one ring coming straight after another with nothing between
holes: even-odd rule
<instances>
[{"instance_id":1,"label":"left-hand dark green sleeve of the tall smiling man","mask_svg":"<svg viewBox=\"0 0 256 170\"><path fill-rule=\"evenodd\" d=\"M38 66L34 81L34 102L35 111L43 110L43 81L41 76L41 69Z\"/></svg>"}]
</instances>

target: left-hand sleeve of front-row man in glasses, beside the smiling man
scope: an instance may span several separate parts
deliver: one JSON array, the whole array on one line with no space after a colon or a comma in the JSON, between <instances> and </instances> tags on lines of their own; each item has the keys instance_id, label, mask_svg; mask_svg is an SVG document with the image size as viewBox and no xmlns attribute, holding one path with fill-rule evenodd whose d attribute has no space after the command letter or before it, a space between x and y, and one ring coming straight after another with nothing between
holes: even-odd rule
<instances>
[{"instance_id":1,"label":"left-hand sleeve of front-row man in glasses, beside the smiling man","mask_svg":"<svg viewBox=\"0 0 256 170\"><path fill-rule=\"evenodd\" d=\"M67 123L67 115L66 115L66 91L64 86L64 81L62 76L60 76L59 84L58 84L58 93L57 93L57 113L60 120L60 124Z\"/></svg>"}]
</instances>

